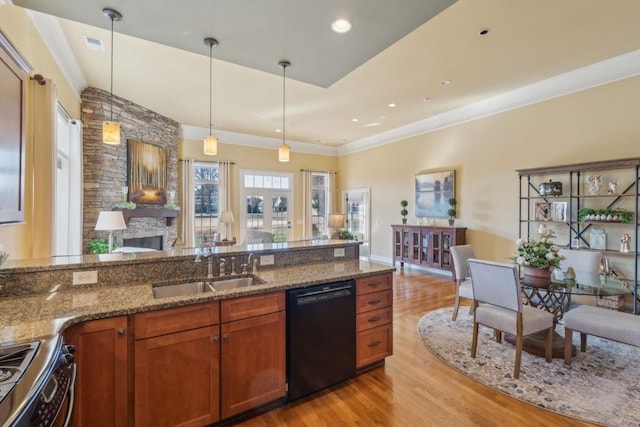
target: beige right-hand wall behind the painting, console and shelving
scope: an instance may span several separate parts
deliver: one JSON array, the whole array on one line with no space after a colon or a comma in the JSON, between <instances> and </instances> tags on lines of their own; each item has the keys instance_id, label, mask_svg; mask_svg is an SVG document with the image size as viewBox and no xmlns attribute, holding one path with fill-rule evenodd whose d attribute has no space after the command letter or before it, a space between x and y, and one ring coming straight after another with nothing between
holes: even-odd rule
<instances>
[{"instance_id":1,"label":"beige right-hand wall behind the painting, console and shelving","mask_svg":"<svg viewBox=\"0 0 640 427\"><path fill-rule=\"evenodd\" d=\"M515 170L640 157L638 93L635 77L342 156L339 187L371 187L371 253L390 259L400 200L414 216L414 175L454 168L456 225L469 228L477 256L508 262L518 236Z\"/></svg>"}]
</instances>

